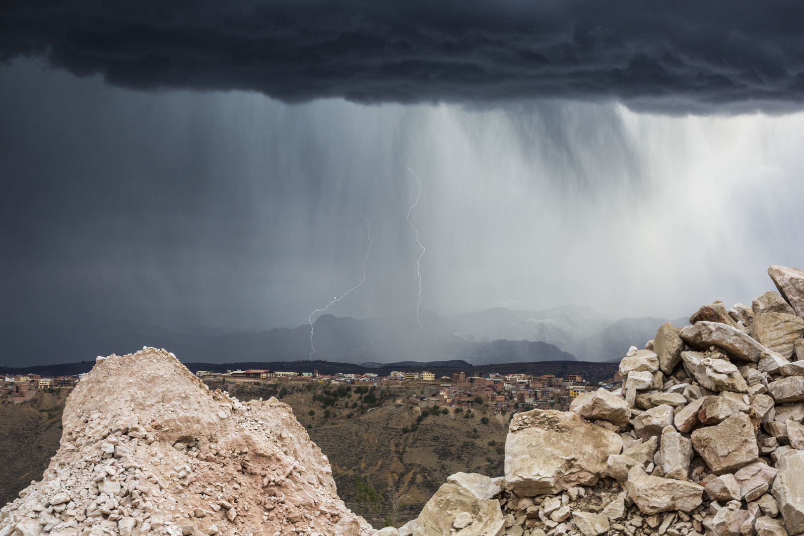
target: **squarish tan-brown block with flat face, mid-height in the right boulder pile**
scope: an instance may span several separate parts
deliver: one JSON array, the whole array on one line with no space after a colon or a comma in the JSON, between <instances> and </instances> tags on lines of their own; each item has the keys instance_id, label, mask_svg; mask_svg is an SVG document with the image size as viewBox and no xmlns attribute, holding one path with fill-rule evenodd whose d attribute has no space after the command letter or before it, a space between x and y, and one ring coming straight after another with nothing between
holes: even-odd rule
<instances>
[{"instance_id":1,"label":"squarish tan-brown block with flat face, mid-height in the right boulder pile","mask_svg":"<svg viewBox=\"0 0 804 536\"><path fill-rule=\"evenodd\" d=\"M730 473L759 460L759 447L748 415L738 413L717 426L692 432L692 446L712 473Z\"/></svg>"}]
</instances>

